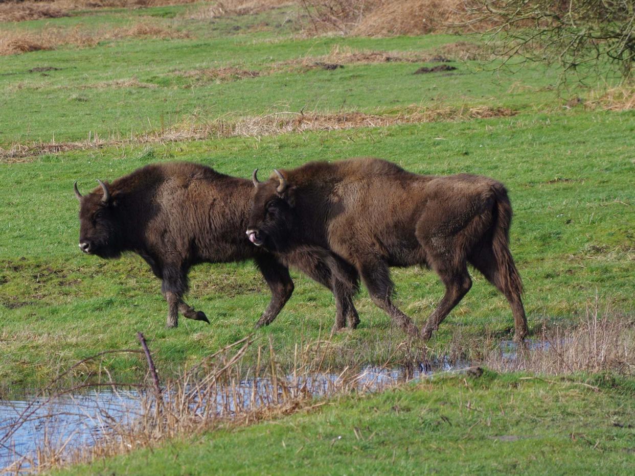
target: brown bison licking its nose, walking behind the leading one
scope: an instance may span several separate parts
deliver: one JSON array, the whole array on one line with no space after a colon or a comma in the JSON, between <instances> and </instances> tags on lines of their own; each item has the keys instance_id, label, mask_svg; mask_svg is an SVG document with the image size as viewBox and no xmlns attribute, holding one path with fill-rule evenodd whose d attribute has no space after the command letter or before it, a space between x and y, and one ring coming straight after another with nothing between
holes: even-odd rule
<instances>
[{"instance_id":1,"label":"brown bison licking its nose, walking behind the leading one","mask_svg":"<svg viewBox=\"0 0 635 476\"><path fill-rule=\"evenodd\" d=\"M505 295L515 339L525 338L522 284L508 246L512 209L502 183L416 175L372 158L311 162L254 183L251 242L278 254L307 245L335 253L358 270L375 304L404 331L418 333L392 303L389 267L431 267L445 284L421 333L429 339L471 288L471 263Z\"/></svg>"}]
</instances>

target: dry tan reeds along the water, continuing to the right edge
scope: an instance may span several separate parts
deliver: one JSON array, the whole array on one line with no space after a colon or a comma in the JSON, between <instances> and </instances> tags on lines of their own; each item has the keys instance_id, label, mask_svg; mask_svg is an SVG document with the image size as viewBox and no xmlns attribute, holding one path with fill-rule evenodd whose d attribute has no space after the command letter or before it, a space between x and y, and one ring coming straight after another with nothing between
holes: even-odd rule
<instances>
[{"instance_id":1,"label":"dry tan reeds along the water, continuing to the right edge","mask_svg":"<svg viewBox=\"0 0 635 476\"><path fill-rule=\"evenodd\" d=\"M538 376L598 372L632 376L635 374L634 337L635 320L615 315L608 308L601 312L596 298L578 326L566 329L554 327L549 331L543 329L542 340L530 341L524 348L509 349L497 345L497 350L485 352L479 365L485 364L500 372L526 371ZM242 360L250 348L250 337L243 338L190 367L179 378L164 382L163 387L156 374L152 380L147 379L152 381L149 385L128 384L128 387L142 390L129 394L127 406L116 407L115 413L107 407L98 407L97 416L90 421L91 427L96 426L99 430L98 438L90 444L77 446L66 435L62 440L56 439L53 432L50 435L45 433L35 453L16 454L17 459L4 471L41 472L59 466L86 463L142 447L154 447L175 437L196 435L215 428L249 425L284 414L308 411L326 403L325 397L383 390L400 381L417 377L417 373L408 366L401 367L397 372L389 370L392 356L403 345L408 343L401 343L394 348L384 366L348 366L333 371L325 362L334 352L337 354L338 347L330 340L318 338L307 343L301 339L295 346L292 362L288 367L283 367L279 364L271 340L268 346L257 348L255 365L244 366ZM473 346L474 342L468 345ZM450 346L453 348L446 350L438 360L449 361L452 355L460 359L465 355L464 346L465 342L460 338L453 340ZM60 374L59 378L87 360L116 352L138 353L139 359L144 359L142 351L136 349L106 351L78 362ZM474 353L478 353L478 350ZM146 355L149 356L149 353ZM420 352L417 355L419 359L422 356ZM148 357L147 360L149 369L153 369L152 359ZM466 365L441 373L480 376L482 370ZM95 385L111 387L114 395L117 395L126 384L115 383L110 374L108 376L107 381ZM584 382L584 378L577 383L592 387ZM49 388L53 388L54 384L55 381ZM3 434L0 447L11 446L11 435L21 425L38 422L46 426L46 421L51 418L63 417L64 414L56 414L55 411L37 413L48 408L47 405L59 395L92 386L79 385L50 397L43 393L39 399L32 400L17 418L0 425ZM47 389L44 390L46 392Z\"/></svg>"}]
</instances>

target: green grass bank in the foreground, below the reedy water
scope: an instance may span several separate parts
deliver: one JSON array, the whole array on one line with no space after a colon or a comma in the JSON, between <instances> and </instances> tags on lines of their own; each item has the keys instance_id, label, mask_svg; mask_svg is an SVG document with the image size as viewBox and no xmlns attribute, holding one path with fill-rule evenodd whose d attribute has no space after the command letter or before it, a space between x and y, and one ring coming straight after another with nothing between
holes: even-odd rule
<instances>
[{"instance_id":1,"label":"green grass bank in the foreground, below the reedy water","mask_svg":"<svg viewBox=\"0 0 635 476\"><path fill-rule=\"evenodd\" d=\"M587 385L426 380L55 474L630 474L635 381Z\"/></svg>"}]
</instances>

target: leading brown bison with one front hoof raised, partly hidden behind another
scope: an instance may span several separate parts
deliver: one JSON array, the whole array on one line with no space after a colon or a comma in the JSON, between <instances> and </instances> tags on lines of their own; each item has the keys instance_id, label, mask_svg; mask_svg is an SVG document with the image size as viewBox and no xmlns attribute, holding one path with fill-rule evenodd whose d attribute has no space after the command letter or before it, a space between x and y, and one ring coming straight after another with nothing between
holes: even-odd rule
<instances>
[{"instance_id":1,"label":"leading brown bison with one front hoof raised, partly hidden behind another","mask_svg":"<svg viewBox=\"0 0 635 476\"><path fill-rule=\"evenodd\" d=\"M124 251L144 258L162 281L168 327L177 326L178 312L210 322L183 301L190 267L248 259L255 261L272 293L257 327L270 324L293 292L287 265L333 291L336 327L358 324L352 303L358 278L350 265L308 247L278 260L250 244L244 235L254 192L249 180L177 162L148 165L109 184L97 182L100 186L84 196L74 185L80 202L79 248L101 258L117 258Z\"/></svg>"}]
</instances>

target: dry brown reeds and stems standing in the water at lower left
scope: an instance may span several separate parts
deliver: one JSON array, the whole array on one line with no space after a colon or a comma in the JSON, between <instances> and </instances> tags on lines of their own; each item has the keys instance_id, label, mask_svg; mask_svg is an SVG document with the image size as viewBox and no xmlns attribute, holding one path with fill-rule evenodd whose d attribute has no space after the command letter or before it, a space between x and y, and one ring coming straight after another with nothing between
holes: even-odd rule
<instances>
[{"instance_id":1,"label":"dry brown reeds and stems standing in the water at lower left","mask_svg":"<svg viewBox=\"0 0 635 476\"><path fill-rule=\"evenodd\" d=\"M122 387L147 390L128 395L128 406L123 408L121 404L103 406L96 400L99 416L90 423L93 429L98 428L99 431L98 438L93 440L91 446L67 449L68 440L58 442L45 438L39 442L35 454L22 454L11 466L0 468L0 472L20 473L27 469L30 472L46 472L62 466L89 463L98 458L130 453L135 449L155 447L175 437L191 437L217 428L235 428L272 420L284 414L309 411L326 403L324 400L316 401L316 397L378 391L401 380L401 375L391 379L384 376L378 380L379 371L386 366L371 370L347 367L332 373L324 366L326 355L333 352L328 340L312 343L300 341L295 347L290 369L283 369L277 364L271 343L268 348L257 349L258 362L253 370L244 367L241 359L249 347L249 338L239 340L206 357L201 364L187 369L180 378L166 381L163 388L158 376L154 381L148 378L152 383L147 385L120 385L114 383L110 374L107 374L109 378L105 379L105 383L80 385L51 396L43 393L41 398L27 404L15 421L0 423L1 445L11 447L11 435L25 423L39 421L46 426L55 418L64 416L64 413L55 413L54 410L47 411L43 416L37 413L38 410L48 409L49 403L60 395L72 395L82 388L97 385L112 387L115 393L121 391ZM134 349L102 352L78 362L76 366L86 360L101 361L104 355L117 352L139 353ZM143 359L143 355L139 358ZM154 369L151 359L148 360L150 369ZM149 374L152 374L152 370ZM257 382L257 385L253 385L253 382ZM113 413L113 408L116 413Z\"/></svg>"}]
</instances>

